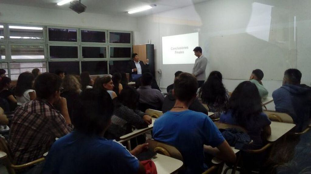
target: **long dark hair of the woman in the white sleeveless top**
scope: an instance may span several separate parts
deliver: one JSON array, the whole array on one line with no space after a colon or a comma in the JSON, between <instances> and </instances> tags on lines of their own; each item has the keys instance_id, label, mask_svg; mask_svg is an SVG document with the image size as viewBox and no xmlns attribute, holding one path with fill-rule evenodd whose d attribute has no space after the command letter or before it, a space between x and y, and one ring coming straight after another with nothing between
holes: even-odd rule
<instances>
[{"instance_id":1,"label":"long dark hair of the woman in the white sleeveless top","mask_svg":"<svg viewBox=\"0 0 311 174\"><path fill-rule=\"evenodd\" d=\"M21 97L27 89L33 88L35 77L30 72L23 72L18 76L15 95Z\"/></svg>"}]
</instances>

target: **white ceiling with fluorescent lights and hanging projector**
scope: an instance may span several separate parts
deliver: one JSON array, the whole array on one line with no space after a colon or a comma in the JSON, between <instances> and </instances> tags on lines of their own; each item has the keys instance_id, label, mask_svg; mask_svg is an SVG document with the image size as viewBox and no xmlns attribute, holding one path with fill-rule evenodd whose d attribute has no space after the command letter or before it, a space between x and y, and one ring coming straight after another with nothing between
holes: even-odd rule
<instances>
[{"instance_id":1,"label":"white ceiling with fluorescent lights and hanging projector","mask_svg":"<svg viewBox=\"0 0 311 174\"><path fill-rule=\"evenodd\" d=\"M71 10L68 8L69 3L63 6L56 5L56 3L60 1L61 0L0 0L0 3ZM107 15L129 15L126 13L127 11L144 5L156 4L156 7L150 10L129 15L137 17L187 7L206 1L209 0L81 0L81 3L87 7L85 12Z\"/></svg>"}]
</instances>

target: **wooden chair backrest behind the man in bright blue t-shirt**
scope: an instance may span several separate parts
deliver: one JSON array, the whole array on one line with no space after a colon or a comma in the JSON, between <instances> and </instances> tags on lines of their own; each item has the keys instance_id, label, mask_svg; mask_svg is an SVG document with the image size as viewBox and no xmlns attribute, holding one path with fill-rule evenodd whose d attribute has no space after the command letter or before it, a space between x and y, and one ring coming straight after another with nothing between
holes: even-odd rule
<instances>
[{"instance_id":1,"label":"wooden chair backrest behind the man in bright blue t-shirt","mask_svg":"<svg viewBox=\"0 0 311 174\"><path fill-rule=\"evenodd\" d=\"M146 140L146 143L149 143L149 149L153 150L156 153L183 161L183 156L174 146L153 139Z\"/></svg>"}]
</instances>

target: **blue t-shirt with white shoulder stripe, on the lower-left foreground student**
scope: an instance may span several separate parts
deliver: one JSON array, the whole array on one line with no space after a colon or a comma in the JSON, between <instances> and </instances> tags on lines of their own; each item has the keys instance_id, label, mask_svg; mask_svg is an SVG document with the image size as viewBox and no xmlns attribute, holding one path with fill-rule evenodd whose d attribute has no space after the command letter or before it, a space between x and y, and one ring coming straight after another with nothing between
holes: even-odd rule
<instances>
[{"instance_id":1,"label":"blue t-shirt with white shoulder stripe, on the lower-left foreground student","mask_svg":"<svg viewBox=\"0 0 311 174\"><path fill-rule=\"evenodd\" d=\"M43 174L137 173L139 161L120 143L73 131L54 142Z\"/></svg>"}]
</instances>

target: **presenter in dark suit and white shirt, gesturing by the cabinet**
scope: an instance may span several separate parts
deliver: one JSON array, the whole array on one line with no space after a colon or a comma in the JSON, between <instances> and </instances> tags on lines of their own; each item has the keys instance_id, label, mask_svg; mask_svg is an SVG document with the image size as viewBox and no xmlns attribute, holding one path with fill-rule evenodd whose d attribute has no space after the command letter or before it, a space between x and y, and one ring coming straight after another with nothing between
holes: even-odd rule
<instances>
[{"instance_id":1,"label":"presenter in dark suit and white shirt, gesturing by the cabinet","mask_svg":"<svg viewBox=\"0 0 311 174\"><path fill-rule=\"evenodd\" d=\"M146 65L139 61L137 53L132 54L132 61L128 63L128 73L132 74L143 74L149 72L149 59L146 61Z\"/></svg>"}]
</instances>

